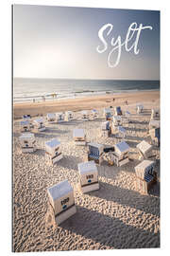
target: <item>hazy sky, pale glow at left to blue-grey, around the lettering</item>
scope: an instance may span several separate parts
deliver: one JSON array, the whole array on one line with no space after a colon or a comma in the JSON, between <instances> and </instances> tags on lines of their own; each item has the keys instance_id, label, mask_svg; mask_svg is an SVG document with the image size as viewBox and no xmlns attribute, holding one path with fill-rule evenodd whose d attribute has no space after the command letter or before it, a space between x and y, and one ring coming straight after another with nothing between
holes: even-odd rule
<instances>
[{"instance_id":1,"label":"hazy sky, pale glow at left to blue-grey, around the lettering","mask_svg":"<svg viewBox=\"0 0 170 256\"><path fill-rule=\"evenodd\" d=\"M142 30L139 54L121 48L120 62L109 67L108 55L120 35L122 43L132 23L151 26ZM113 25L103 36L104 48L98 30ZM151 10L60 8L14 5L13 13L13 70L14 77L63 79L160 79L160 12ZM135 31L132 42L136 39ZM117 51L112 55L112 62Z\"/></svg>"}]
</instances>

